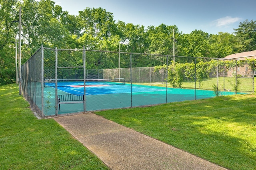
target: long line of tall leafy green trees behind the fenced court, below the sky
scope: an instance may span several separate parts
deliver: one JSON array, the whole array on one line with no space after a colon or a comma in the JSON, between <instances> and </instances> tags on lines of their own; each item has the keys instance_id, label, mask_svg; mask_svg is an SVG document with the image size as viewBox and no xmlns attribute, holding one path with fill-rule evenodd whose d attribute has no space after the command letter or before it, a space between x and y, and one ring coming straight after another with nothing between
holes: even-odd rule
<instances>
[{"instance_id":1,"label":"long line of tall leafy green trees behind the fenced court, below the sky","mask_svg":"<svg viewBox=\"0 0 256 170\"><path fill-rule=\"evenodd\" d=\"M256 21L240 22L234 34L208 34L194 30L182 34L177 26L134 25L114 20L113 13L103 8L85 8L78 16L63 11L52 0L0 1L0 85L15 81L15 35L18 35L19 7L22 7L22 63L43 44L61 49L86 49L192 57L225 57L232 53L256 50ZM175 40L173 39L175 30ZM175 41L175 49L173 49ZM94 56L97 63L115 67L116 60ZM146 65L134 58L136 65ZM159 59L160 62L161 59ZM186 62L180 61L180 62ZM152 63L151 63L152 64ZM156 63L158 64L158 63ZM93 67L93 65L91 66Z\"/></svg>"}]
</instances>

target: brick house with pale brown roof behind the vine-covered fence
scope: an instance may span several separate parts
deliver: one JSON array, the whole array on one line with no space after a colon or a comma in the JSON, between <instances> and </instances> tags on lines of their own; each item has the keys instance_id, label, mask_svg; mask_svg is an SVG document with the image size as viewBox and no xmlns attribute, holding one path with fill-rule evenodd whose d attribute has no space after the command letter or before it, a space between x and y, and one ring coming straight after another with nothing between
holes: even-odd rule
<instances>
[{"instance_id":1,"label":"brick house with pale brown roof behind the vine-covered fence","mask_svg":"<svg viewBox=\"0 0 256 170\"><path fill-rule=\"evenodd\" d=\"M256 50L231 54L231 55L228 55L228 56L224 57L223 59L245 60L246 58L255 59L256 58ZM235 71L236 71L236 68L229 69L227 71L227 76L232 77L232 74ZM252 70L250 69L250 65L246 64L246 65L244 65L244 67L237 67L237 75L246 76L246 77L248 75L252 75ZM254 75L256 75L256 72L254 72Z\"/></svg>"}]
</instances>

